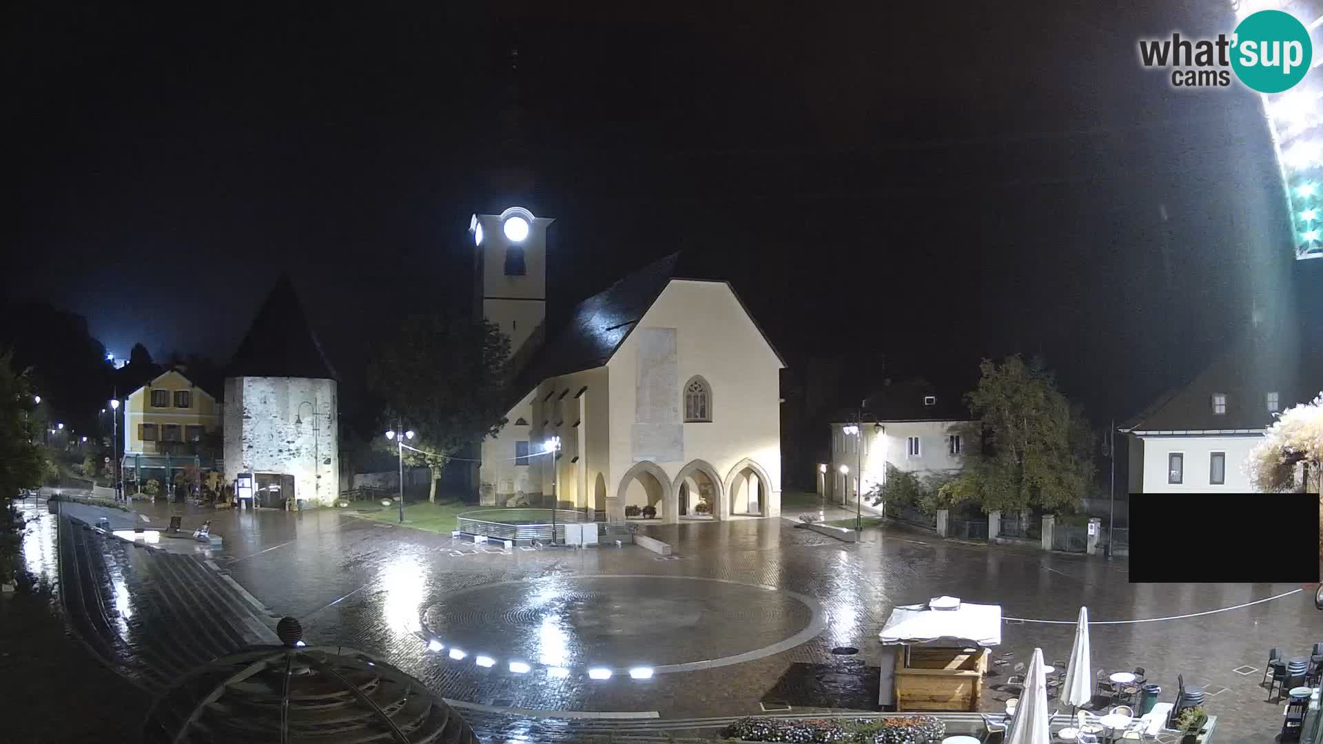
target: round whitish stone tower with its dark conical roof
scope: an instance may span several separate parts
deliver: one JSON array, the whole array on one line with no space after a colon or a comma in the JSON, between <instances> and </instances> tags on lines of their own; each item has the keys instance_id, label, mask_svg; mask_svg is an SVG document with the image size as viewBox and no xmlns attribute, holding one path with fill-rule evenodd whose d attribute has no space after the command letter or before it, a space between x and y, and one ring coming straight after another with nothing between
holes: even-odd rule
<instances>
[{"instance_id":1,"label":"round whitish stone tower with its dark conical roof","mask_svg":"<svg viewBox=\"0 0 1323 744\"><path fill-rule=\"evenodd\" d=\"M339 417L336 373L280 277L225 373L225 478L253 474L258 506L335 503Z\"/></svg>"}]
</instances>

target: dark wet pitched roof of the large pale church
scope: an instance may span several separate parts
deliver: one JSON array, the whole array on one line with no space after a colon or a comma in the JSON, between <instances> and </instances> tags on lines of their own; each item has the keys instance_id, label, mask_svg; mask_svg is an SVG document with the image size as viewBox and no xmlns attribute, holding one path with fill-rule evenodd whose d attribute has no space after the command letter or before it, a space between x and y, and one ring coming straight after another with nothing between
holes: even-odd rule
<instances>
[{"instance_id":1,"label":"dark wet pitched roof of the large pale church","mask_svg":"<svg viewBox=\"0 0 1323 744\"><path fill-rule=\"evenodd\" d=\"M671 279L704 279L691 262L676 252L628 274L606 290L578 303L569 322L534 355L515 379L515 392L523 396L548 377L581 372L606 364L624 343L643 315L652 307ZM734 293L734 287L732 287ZM736 295L740 299L740 295ZM740 301L744 306L744 301ZM745 307L747 314L749 308ZM753 315L749 316L753 320ZM757 327L757 322L754 320ZM758 328L762 334L762 328ZM767 339L766 334L763 340ZM773 353L781 353L767 340ZM785 361L782 361L785 364Z\"/></svg>"}]
</instances>

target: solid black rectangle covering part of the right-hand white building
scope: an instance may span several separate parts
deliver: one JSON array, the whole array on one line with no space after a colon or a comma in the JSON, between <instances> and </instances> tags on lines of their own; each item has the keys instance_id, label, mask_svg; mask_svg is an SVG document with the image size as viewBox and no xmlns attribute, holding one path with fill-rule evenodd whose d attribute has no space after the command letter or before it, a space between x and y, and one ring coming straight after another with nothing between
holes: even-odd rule
<instances>
[{"instance_id":1,"label":"solid black rectangle covering part of the right-hand white building","mask_svg":"<svg viewBox=\"0 0 1323 744\"><path fill-rule=\"evenodd\" d=\"M1318 494L1132 494L1131 584L1316 584Z\"/></svg>"}]
</instances>

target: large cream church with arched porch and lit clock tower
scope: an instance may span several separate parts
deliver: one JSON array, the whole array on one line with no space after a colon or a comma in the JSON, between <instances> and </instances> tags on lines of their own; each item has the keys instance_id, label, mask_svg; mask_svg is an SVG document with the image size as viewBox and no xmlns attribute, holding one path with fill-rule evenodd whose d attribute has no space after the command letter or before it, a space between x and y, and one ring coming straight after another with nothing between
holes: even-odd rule
<instances>
[{"instance_id":1,"label":"large cream church with arched porch and lit clock tower","mask_svg":"<svg viewBox=\"0 0 1323 744\"><path fill-rule=\"evenodd\" d=\"M470 221L478 310L515 365L507 424L482 442L482 503L611 522L778 516L785 360L730 283L677 253L546 328L552 222L520 207Z\"/></svg>"}]
</instances>

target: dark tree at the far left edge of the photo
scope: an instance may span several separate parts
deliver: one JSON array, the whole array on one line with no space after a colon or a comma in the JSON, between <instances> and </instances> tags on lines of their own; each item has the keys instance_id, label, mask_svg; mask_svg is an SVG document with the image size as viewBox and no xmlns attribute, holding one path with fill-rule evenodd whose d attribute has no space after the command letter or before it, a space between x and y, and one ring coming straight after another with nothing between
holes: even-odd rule
<instances>
[{"instance_id":1,"label":"dark tree at the far left edge of the photo","mask_svg":"<svg viewBox=\"0 0 1323 744\"><path fill-rule=\"evenodd\" d=\"M13 352L0 353L0 584L13 580L19 565L22 522L13 496L36 488L46 474L46 461L36 443L29 413L32 388L25 373L15 373Z\"/></svg>"}]
</instances>

